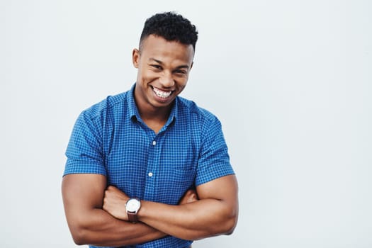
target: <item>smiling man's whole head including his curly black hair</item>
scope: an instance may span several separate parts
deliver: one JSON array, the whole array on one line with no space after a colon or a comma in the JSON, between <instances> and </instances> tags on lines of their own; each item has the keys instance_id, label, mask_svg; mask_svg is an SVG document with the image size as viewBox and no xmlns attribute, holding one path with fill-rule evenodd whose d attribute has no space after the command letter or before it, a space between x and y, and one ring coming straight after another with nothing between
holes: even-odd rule
<instances>
[{"instance_id":1,"label":"smiling man's whole head including his curly black hair","mask_svg":"<svg viewBox=\"0 0 372 248\"><path fill-rule=\"evenodd\" d=\"M133 50L135 101L142 113L169 111L188 81L197 39L196 27L176 13L147 19L140 48Z\"/></svg>"}]
</instances>

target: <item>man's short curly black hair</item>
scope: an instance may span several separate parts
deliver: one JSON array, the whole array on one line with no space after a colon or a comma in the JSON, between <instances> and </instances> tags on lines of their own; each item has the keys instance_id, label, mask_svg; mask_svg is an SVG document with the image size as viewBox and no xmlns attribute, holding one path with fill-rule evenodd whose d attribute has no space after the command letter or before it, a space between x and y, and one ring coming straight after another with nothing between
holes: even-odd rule
<instances>
[{"instance_id":1,"label":"man's short curly black hair","mask_svg":"<svg viewBox=\"0 0 372 248\"><path fill-rule=\"evenodd\" d=\"M193 45L194 51L198 40L196 26L175 12L157 13L145 21L140 38L140 48L142 41L149 35L157 35L165 40Z\"/></svg>"}]
</instances>

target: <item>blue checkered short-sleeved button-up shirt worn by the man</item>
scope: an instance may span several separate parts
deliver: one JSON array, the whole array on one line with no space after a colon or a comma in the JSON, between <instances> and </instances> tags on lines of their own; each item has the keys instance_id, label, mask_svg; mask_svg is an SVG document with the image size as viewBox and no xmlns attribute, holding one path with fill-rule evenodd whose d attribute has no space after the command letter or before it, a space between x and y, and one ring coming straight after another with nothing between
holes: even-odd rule
<instances>
[{"instance_id":1,"label":"blue checkered short-sleeved button-up shirt worn by the man","mask_svg":"<svg viewBox=\"0 0 372 248\"><path fill-rule=\"evenodd\" d=\"M102 174L130 197L177 205L189 188L234 174L215 115L177 96L167 123L155 134L138 113L134 89L79 115L64 175ZM191 242L167 236L131 247L179 248Z\"/></svg>"}]
</instances>

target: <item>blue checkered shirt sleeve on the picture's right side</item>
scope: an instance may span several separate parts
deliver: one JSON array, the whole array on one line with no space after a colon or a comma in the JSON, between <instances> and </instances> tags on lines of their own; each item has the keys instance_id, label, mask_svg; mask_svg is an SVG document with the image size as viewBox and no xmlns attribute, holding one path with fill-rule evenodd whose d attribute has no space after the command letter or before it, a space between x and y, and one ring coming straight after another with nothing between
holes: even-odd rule
<instances>
[{"instance_id":1,"label":"blue checkered shirt sleeve on the picture's right side","mask_svg":"<svg viewBox=\"0 0 372 248\"><path fill-rule=\"evenodd\" d=\"M221 176L235 174L230 164L220 120L214 117L203 125L201 152L198 159L196 186Z\"/></svg>"}]
</instances>

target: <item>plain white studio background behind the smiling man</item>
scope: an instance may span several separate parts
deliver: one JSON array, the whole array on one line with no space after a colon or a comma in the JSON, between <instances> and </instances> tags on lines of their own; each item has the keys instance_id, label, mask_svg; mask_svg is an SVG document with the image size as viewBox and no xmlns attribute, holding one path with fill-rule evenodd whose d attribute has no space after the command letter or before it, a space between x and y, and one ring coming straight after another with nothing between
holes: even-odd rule
<instances>
[{"instance_id":1,"label":"plain white studio background behind the smiling man","mask_svg":"<svg viewBox=\"0 0 372 248\"><path fill-rule=\"evenodd\" d=\"M143 23L198 26L182 94L222 121L231 236L193 247L372 247L371 1L0 2L0 246L75 247L60 184L77 115L135 81Z\"/></svg>"}]
</instances>

